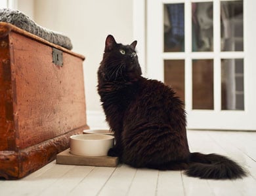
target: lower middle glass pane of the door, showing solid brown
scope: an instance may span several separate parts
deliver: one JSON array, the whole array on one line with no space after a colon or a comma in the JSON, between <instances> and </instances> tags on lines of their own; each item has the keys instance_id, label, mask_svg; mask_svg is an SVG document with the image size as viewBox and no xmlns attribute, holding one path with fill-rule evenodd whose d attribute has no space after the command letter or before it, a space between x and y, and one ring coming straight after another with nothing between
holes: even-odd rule
<instances>
[{"instance_id":1,"label":"lower middle glass pane of the door, showing solid brown","mask_svg":"<svg viewBox=\"0 0 256 196\"><path fill-rule=\"evenodd\" d=\"M213 110L213 59L192 61L192 108Z\"/></svg>"}]
</instances>

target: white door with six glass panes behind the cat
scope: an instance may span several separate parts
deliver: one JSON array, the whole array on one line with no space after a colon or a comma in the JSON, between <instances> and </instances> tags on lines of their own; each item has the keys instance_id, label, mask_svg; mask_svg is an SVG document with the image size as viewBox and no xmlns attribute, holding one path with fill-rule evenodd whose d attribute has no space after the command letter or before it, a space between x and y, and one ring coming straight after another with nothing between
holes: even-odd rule
<instances>
[{"instance_id":1,"label":"white door with six glass panes behind the cat","mask_svg":"<svg viewBox=\"0 0 256 196\"><path fill-rule=\"evenodd\" d=\"M256 130L252 7L256 1L147 1L147 74L177 91L188 129Z\"/></svg>"}]
</instances>

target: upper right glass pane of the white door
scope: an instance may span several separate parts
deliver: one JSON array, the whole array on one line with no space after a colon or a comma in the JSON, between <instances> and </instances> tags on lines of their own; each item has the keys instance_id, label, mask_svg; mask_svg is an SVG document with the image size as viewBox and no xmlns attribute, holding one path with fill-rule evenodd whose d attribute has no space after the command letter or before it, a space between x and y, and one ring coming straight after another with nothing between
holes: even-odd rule
<instances>
[{"instance_id":1,"label":"upper right glass pane of the white door","mask_svg":"<svg viewBox=\"0 0 256 196\"><path fill-rule=\"evenodd\" d=\"M243 1L221 1L221 50L244 50Z\"/></svg>"}]
</instances>

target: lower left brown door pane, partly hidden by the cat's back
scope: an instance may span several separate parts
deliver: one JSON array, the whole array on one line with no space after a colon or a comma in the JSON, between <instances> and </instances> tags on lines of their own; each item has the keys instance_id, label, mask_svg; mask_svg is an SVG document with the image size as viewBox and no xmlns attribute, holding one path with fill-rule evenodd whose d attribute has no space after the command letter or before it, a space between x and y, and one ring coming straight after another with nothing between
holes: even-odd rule
<instances>
[{"instance_id":1,"label":"lower left brown door pane, partly hidden by the cat's back","mask_svg":"<svg viewBox=\"0 0 256 196\"><path fill-rule=\"evenodd\" d=\"M171 86L184 102L184 60L164 61L164 82Z\"/></svg>"}]
</instances>

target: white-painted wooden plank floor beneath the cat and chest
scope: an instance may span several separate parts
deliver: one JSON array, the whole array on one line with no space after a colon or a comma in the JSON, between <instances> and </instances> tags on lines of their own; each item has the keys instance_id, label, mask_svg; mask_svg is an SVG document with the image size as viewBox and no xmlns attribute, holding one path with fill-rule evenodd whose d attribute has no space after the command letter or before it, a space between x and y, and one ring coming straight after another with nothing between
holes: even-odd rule
<instances>
[{"instance_id":1,"label":"white-painted wooden plank floor beneath the cat and chest","mask_svg":"<svg viewBox=\"0 0 256 196\"><path fill-rule=\"evenodd\" d=\"M242 180L200 180L182 171L56 165L22 180L0 180L0 195L256 195L256 132L188 131L192 152L235 159L249 175Z\"/></svg>"}]
</instances>

